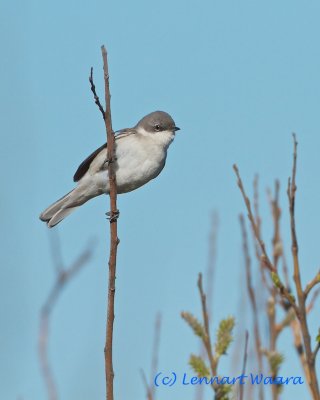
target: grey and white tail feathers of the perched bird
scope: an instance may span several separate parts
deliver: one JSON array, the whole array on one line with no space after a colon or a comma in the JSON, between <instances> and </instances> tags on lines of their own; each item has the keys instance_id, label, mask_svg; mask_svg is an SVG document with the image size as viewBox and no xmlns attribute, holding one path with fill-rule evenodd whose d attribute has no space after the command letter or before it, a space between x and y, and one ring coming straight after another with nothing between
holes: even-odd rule
<instances>
[{"instance_id":1,"label":"grey and white tail feathers of the perched bird","mask_svg":"<svg viewBox=\"0 0 320 400\"><path fill-rule=\"evenodd\" d=\"M94 196L86 196L82 188L78 186L46 208L39 218L47 223L48 228L52 228L91 197Z\"/></svg>"}]
</instances>

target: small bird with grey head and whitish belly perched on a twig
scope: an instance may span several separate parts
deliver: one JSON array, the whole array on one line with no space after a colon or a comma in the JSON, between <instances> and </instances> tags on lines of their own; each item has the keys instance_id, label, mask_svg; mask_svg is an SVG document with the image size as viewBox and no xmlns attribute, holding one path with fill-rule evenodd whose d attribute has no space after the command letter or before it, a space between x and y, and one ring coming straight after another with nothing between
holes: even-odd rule
<instances>
[{"instance_id":1,"label":"small bird with grey head and whitish belly perched on a twig","mask_svg":"<svg viewBox=\"0 0 320 400\"><path fill-rule=\"evenodd\" d=\"M155 111L143 117L133 128L116 132L114 167L117 193L131 192L160 174L168 147L179 129L169 114ZM107 143L80 164L73 180L78 182L77 186L40 215L49 228L93 197L109 193Z\"/></svg>"}]
</instances>

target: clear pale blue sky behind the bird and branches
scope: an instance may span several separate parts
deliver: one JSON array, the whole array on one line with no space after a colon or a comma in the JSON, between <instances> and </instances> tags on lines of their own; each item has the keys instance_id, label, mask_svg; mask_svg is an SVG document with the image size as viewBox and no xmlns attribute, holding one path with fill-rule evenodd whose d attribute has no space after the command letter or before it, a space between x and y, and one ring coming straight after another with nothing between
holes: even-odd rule
<instances>
[{"instance_id":1,"label":"clear pale blue sky behind the bird and branches","mask_svg":"<svg viewBox=\"0 0 320 400\"><path fill-rule=\"evenodd\" d=\"M315 0L0 1L2 399L45 398L36 340L54 276L51 233L38 215L72 188L78 164L105 140L88 85L93 66L103 97L102 43L110 59L114 128L156 109L181 127L161 176L119 198L117 398L144 398L139 368L149 368L157 311L163 313L159 369L190 371L189 354L199 346L179 314L200 312L196 279L206 268L212 209L221 221L213 329L239 312L243 204L232 164L247 186L258 172L263 194L276 177L285 184L292 131L299 139L303 280L313 277L320 262L319 17ZM57 228L66 263L88 238L99 241L52 316L50 356L61 399L104 397L107 200L90 202ZM287 224L283 191L281 201ZM264 228L269 245L270 223ZM287 232L285 239L288 245ZM288 360L283 375L301 374L289 334L280 349ZM223 365L221 372L230 372ZM283 398L302 396L306 387L289 388ZM194 391L162 389L158 398L190 400Z\"/></svg>"}]
</instances>

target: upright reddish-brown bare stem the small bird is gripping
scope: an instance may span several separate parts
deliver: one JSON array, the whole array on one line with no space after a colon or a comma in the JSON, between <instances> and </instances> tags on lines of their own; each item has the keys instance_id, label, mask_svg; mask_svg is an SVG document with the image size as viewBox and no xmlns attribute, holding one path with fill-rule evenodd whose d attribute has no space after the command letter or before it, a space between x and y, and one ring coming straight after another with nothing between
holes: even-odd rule
<instances>
[{"instance_id":1,"label":"upright reddish-brown bare stem the small bird is gripping","mask_svg":"<svg viewBox=\"0 0 320 400\"><path fill-rule=\"evenodd\" d=\"M115 138L112 129L111 106L110 106L110 88L109 88L109 70L108 56L104 46L101 47L104 70L105 83L105 125L107 132L107 160L108 160L108 175L110 185L110 253L109 253L109 280L108 280L108 306L107 306L107 326L106 326L106 342L104 347L105 356L105 376L107 386L107 400L113 400L113 322L114 322L114 297L115 297L115 280L116 280L116 265L117 265L117 248L119 244L117 231L117 218L119 211L117 209L117 183L114 170L114 151Z\"/></svg>"}]
</instances>

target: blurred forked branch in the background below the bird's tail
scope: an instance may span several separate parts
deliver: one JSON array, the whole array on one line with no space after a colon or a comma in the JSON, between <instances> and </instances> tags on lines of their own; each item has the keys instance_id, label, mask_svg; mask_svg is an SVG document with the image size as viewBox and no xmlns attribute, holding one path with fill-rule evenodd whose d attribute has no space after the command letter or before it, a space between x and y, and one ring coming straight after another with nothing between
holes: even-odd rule
<instances>
[{"instance_id":1,"label":"blurred forked branch in the background below the bird's tail","mask_svg":"<svg viewBox=\"0 0 320 400\"><path fill-rule=\"evenodd\" d=\"M65 286L70 282L74 276L88 263L93 254L93 247L95 242L89 241L87 248L80 254L76 261L68 268L61 264L61 248L59 241L51 242L51 249L56 250L60 256L53 258L54 268L56 272L56 280L52 286L51 291L41 309L40 315L40 328L39 328L39 361L41 372L46 384L48 399L57 400L57 386L52 373L52 368L48 356L48 340L49 340L49 323L53 307L55 306L61 292Z\"/></svg>"}]
</instances>

